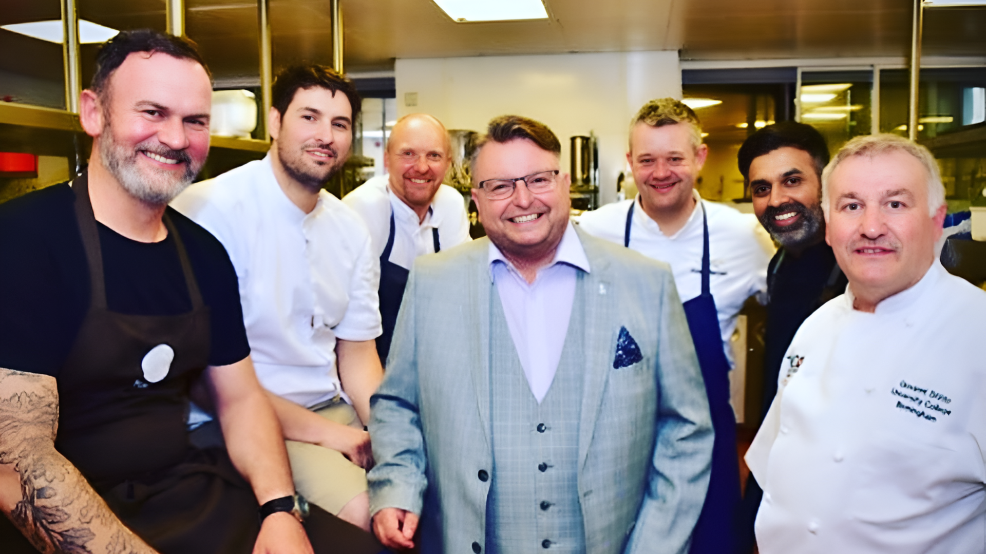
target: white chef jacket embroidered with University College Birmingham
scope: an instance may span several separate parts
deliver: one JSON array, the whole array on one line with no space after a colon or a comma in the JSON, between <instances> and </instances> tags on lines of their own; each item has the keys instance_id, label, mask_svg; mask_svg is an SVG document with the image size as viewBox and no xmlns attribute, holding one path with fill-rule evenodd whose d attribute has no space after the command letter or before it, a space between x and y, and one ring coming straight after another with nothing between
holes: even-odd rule
<instances>
[{"instance_id":1,"label":"white chef jacket embroidered with University College Birmingham","mask_svg":"<svg viewBox=\"0 0 986 554\"><path fill-rule=\"evenodd\" d=\"M746 453L763 554L986 551L986 293L916 285L812 313Z\"/></svg>"}]
</instances>

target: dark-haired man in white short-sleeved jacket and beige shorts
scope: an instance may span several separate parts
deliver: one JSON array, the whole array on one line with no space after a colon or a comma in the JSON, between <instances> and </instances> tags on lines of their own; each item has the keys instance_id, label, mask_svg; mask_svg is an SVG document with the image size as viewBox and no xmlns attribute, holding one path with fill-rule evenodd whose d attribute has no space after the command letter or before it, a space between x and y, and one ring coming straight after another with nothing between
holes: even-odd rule
<instances>
[{"instance_id":1,"label":"dark-haired man in white short-sleeved jacket and beige shorts","mask_svg":"<svg viewBox=\"0 0 986 554\"><path fill-rule=\"evenodd\" d=\"M193 185L173 206L230 254L253 365L288 439L296 489L369 529L364 425L383 379L380 270L360 216L322 189L349 157L359 109L352 82L331 69L286 69L267 114L267 157ZM215 426L194 436L211 444Z\"/></svg>"}]
</instances>

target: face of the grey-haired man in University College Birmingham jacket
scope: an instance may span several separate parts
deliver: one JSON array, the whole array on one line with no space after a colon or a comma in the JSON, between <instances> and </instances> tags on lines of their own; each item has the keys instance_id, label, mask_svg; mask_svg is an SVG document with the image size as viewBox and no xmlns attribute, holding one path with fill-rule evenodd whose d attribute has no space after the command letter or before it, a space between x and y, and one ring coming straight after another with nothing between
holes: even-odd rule
<instances>
[{"instance_id":1,"label":"face of the grey-haired man in University College Birmingham jacket","mask_svg":"<svg viewBox=\"0 0 986 554\"><path fill-rule=\"evenodd\" d=\"M828 180L825 241L863 308L921 280L935 260L946 206L929 215L928 173L911 155L852 156Z\"/></svg>"}]
</instances>

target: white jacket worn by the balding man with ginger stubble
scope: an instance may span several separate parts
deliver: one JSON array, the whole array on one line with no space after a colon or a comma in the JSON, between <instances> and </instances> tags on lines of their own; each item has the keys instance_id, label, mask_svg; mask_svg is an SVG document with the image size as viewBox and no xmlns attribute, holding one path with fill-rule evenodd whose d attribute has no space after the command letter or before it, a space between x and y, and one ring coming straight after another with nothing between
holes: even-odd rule
<instances>
[{"instance_id":1,"label":"white jacket worn by the balding man with ginger stubble","mask_svg":"<svg viewBox=\"0 0 986 554\"><path fill-rule=\"evenodd\" d=\"M438 229L442 249L469 241L469 215L458 190L447 184L440 185L421 222L418 214L390 191L389 178L386 174L372 177L342 199L370 229L374 255L378 259L387 246L391 212L394 234L389 261L405 269L411 268L417 256L435 252L433 229Z\"/></svg>"}]
</instances>

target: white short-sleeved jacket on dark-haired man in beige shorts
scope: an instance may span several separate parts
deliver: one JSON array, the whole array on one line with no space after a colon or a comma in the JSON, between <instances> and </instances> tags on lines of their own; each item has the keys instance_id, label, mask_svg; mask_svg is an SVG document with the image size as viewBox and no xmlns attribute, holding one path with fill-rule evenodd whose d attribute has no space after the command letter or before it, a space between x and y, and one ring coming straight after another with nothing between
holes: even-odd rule
<instances>
[{"instance_id":1,"label":"white short-sleeved jacket on dark-haired man in beige shorts","mask_svg":"<svg viewBox=\"0 0 986 554\"><path fill-rule=\"evenodd\" d=\"M230 254L260 383L304 406L348 400L335 340L383 331L379 264L360 217L324 190L304 213L277 184L269 155L189 186L172 206Z\"/></svg>"}]
</instances>

